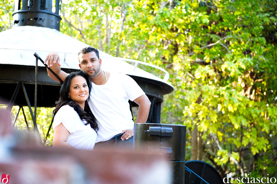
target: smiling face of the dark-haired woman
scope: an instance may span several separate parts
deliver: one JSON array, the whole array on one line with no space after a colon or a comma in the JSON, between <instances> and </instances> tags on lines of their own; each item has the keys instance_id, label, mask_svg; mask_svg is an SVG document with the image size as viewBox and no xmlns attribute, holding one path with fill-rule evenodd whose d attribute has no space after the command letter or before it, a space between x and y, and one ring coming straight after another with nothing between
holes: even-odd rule
<instances>
[{"instance_id":1,"label":"smiling face of the dark-haired woman","mask_svg":"<svg viewBox=\"0 0 277 184\"><path fill-rule=\"evenodd\" d=\"M71 100L82 106L89 97L89 88L86 79L82 76L75 76L70 83L69 93Z\"/></svg>"}]
</instances>

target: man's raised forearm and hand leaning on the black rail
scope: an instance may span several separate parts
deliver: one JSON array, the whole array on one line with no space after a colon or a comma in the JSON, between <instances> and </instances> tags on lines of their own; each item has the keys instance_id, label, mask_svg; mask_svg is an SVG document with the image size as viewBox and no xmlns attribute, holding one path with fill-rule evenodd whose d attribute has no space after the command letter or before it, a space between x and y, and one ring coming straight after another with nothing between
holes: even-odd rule
<instances>
[{"instance_id":1,"label":"man's raised forearm and hand leaning on the black rail","mask_svg":"<svg viewBox=\"0 0 277 184\"><path fill-rule=\"evenodd\" d=\"M47 64L48 68L52 69L54 73L56 73L62 81L66 79L66 77L69 75L68 73L61 70L61 64L60 64L60 58L57 52L50 52L47 57L44 60L44 64ZM53 75L48 69L47 69L48 76L57 81L60 82L57 77Z\"/></svg>"}]
</instances>

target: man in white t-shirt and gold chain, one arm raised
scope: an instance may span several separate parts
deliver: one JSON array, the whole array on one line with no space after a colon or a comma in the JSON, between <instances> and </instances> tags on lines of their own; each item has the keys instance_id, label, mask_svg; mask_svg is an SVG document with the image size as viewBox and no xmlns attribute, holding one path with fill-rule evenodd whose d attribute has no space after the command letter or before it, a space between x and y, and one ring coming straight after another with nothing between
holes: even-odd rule
<instances>
[{"instance_id":1,"label":"man in white t-shirt and gold chain, one arm raised","mask_svg":"<svg viewBox=\"0 0 277 184\"><path fill-rule=\"evenodd\" d=\"M145 123L151 102L139 85L130 77L121 73L105 72L99 52L93 47L81 49L78 53L79 67L92 82L89 106L98 120L95 147L117 145L133 149L134 122L128 100L139 105L136 123ZM48 65L63 81L69 75L60 68L59 56L51 52L44 64ZM51 79L59 80L47 70Z\"/></svg>"}]
</instances>

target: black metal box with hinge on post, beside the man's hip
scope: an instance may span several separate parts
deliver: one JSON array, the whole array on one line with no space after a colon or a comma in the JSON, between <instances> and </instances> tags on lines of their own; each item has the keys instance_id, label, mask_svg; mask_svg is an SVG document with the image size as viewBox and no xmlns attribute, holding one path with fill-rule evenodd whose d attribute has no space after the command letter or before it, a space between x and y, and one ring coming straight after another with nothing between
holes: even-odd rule
<instances>
[{"instance_id":1,"label":"black metal box with hinge on post, beside the man's hip","mask_svg":"<svg viewBox=\"0 0 277 184\"><path fill-rule=\"evenodd\" d=\"M166 153L172 184L185 182L186 130L184 125L135 123L134 149Z\"/></svg>"}]
</instances>

